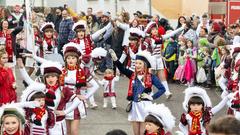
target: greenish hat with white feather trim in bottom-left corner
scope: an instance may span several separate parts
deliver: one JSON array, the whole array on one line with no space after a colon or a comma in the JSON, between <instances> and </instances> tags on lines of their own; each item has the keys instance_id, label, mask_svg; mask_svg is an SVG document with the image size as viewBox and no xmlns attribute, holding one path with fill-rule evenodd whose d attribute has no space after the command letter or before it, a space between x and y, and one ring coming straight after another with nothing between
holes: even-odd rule
<instances>
[{"instance_id":1,"label":"greenish hat with white feather trim in bottom-left corner","mask_svg":"<svg viewBox=\"0 0 240 135\"><path fill-rule=\"evenodd\" d=\"M15 104L5 104L0 107L1 124L4 117L7 115L15 115L21 120L22 125L25 124L25 111L23 110L23 108L20 108Z\"/></svg>"}]
</instances>

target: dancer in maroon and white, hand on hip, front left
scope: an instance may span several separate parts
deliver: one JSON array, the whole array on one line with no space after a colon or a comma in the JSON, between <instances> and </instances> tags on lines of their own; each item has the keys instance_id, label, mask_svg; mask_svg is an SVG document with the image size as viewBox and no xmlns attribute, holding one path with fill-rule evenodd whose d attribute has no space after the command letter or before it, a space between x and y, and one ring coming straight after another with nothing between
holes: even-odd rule
<instances>
[{"instance_id":1,"label":"dancer in maroon and white, hand on hip, front left","mask_svg":"<svg viewBox=\"0 0 240 135\"><path fill-rule=\"evenodd\" d=\"M29 56L32 56L29 55ZM37 59L41 64L41 74L43 76L43 82L46 85L46 105L55 111L56 123L53 128L49 129L49 134L67 134L67 127L65 122L65 115L71 113L74 109L81 106L81 118L86 117L86 111L81 96L78 96L72 92L69 87L61 86L60 75L62 74L62 65L58 62L47 61L39 58L35 55L32 56ZM22 61L19 61L20 73L28 85L34 83L34 81L28 76ZM72 105L66 108L66 104L71 101Z\"/></svg>"}]
</instances>

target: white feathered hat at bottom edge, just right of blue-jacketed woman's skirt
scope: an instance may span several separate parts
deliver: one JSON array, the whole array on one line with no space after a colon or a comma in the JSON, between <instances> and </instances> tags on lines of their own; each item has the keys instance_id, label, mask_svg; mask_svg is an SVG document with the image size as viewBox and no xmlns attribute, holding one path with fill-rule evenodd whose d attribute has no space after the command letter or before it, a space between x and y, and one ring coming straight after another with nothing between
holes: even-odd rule
<instances>
[{"instance_id":1,"label":"white feathered hat at bottom edge, just right of blue-jacketed woman's skirt","mask_svg":"<svg viewBox=\"0 0 240 135\"><path fill-rule=\"evenodd\" d=\"M167 131L171 131L175 127L175 117L164 104L152 104L145 110L149 115L154 116L163 125Z\"/></svg>"}]
</instances>

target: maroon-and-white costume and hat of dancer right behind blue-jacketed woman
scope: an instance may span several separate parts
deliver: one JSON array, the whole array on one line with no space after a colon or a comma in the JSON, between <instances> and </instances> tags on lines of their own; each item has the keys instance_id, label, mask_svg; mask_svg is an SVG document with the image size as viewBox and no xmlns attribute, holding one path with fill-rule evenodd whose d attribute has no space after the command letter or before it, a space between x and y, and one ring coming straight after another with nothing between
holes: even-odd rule
<instances>
[{"instance_id":1,"label":"maroon-and-white costume and hat of dancer right behind blue-jacketed woman","mask_svg":"<svg viewBox=\"0 0 240 135\"><path fill-rule=\"evenodd\" d=\"M141 39L145 36L145 33L138 28L130 28L129 32L130 32L129 40L137 40L137 43L136 45L129 43L128 46L124 46L124 51L119 61L123 63L125 59L127 59L127 67L134 71L136 54L138 53L138 51L142 50Z\"/></svg>"}]
</instances>

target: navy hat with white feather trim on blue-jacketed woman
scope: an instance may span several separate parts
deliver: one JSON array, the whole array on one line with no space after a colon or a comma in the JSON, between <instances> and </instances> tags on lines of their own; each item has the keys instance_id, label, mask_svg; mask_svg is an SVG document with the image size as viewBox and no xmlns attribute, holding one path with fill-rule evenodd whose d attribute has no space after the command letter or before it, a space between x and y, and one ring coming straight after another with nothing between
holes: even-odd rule
<instances>
[{"instance_id":1,"label":"navy hat with white feather trim on blue-jacketed woman","mask_svg":"<svg viewBox=\"0 0 240 135\"><path fill-rule=\"evenodd\" d=\"M142 60L147 64L147 68L153 68L155 63L154 63L154 58L148 51L140 51L136 55L136 60Z\"/></svg>"}]
</instances>

